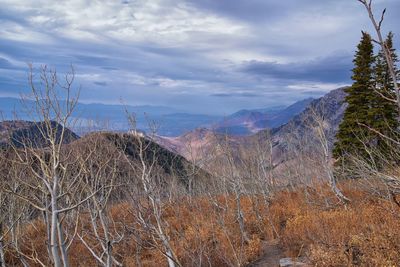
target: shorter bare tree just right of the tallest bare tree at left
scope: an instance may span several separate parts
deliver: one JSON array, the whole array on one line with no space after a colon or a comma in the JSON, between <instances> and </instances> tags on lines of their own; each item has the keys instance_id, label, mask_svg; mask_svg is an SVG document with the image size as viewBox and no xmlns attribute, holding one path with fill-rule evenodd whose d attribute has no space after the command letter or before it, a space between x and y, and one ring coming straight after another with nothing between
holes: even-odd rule
<instances>
[{"instance_id":1,"label":"shorter bare tree just right of the tallest bare tree at left","mask_svg":"<svg viewBox=\"0 0 400 267\"><path fill-rule=\"evenodd\" d=\"M82 221L84 225L77 235L100 265L122 266L113 255L113 247L123 240L124 234L118 232L121 225L117 226L108 212L112 194L121 186L118 184L121 153L104 139L101 134L91 134L76 148L86 195L91 196L83 205L89 222Z\"/></svg>"}]
</instances>

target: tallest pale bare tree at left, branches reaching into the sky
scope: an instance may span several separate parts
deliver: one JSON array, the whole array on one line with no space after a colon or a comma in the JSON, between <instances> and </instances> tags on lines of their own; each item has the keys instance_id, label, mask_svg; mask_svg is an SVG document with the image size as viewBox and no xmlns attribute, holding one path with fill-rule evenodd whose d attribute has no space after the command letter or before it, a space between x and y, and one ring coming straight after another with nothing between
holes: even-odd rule
<instances>
[{"instance_id":1,"label":"tallest pale bare tree at left, branches reaching into the sky","mask_svg":"<svg viewBox=\"0 0 400 267\"><path fill-rule=\"evenodd\" d=\"M31 109L34 121L31 131L22 136L12 136L10 143L16 154L16 164L27 169L29 179L19 179L30 194L13 193L43 214L47 227L49 258L54 266L69 266L68 248L73 236L68 238L64 223L71 211L77 209L85 199L82 196L80 170L72 171L76 162L63 145L74 136L68 127L73 124L73 111L79 92L72 95L74 70L59 80L56 71L42 66L39 78L30 66L29 84L35 101ZM74 221L74 220L73 220Z\"/></svg>"}]
</instances>

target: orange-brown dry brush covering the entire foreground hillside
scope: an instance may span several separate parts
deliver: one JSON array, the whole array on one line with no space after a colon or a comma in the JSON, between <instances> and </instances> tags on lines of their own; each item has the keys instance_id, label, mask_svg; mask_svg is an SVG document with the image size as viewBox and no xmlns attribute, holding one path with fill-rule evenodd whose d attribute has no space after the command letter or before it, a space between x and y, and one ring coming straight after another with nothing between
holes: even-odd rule
<instances>
[{"instance_id":1,"label":"orange-brown dry brush covering the entire foreground hillside","mask_svg":"<svg viewBox=\"0 0 400 267\"><path fill-rule=\"evenodd\" d=\"M183 266L245 266L260 256L264 240L279 236L288 256L306 256L315 266L398 266L400 264L400 209L389 200L345 185L351 198L338 204L328 188L301 188L277 193L267 206L261 197L242 197L244 235L232 196L180 199L167 203L166 231ZM110 217L118 231L127 231L114 255L124 266L166 266L157 241L134 221L128 203L113 206ZM82 216L81 223L87 223ZM139 239L138 239L139 237ZM140 240L141 246L137 244ZM90 241L90 240L89 240ZM47 263L44 226L25 228L26 254ZM8 251L10 265L18 260ZM88 250L76 240L70 250L72 266L96 266ZM38 266L31 262L32 266Z\"/></svg>"}]
</instances>

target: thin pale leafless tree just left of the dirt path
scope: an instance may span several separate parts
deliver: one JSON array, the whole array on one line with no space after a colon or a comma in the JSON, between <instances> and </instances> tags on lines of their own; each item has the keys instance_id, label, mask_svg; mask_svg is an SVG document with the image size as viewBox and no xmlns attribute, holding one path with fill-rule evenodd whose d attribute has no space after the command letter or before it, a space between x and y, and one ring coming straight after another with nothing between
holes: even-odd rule
<instances>
[{"instance_id":1,"label":"thin pale leafless tree just left of the dirt path","mask_svg":"<svg viewBox=\"0 0 400 267\"><path fill-rule=\"evenodd\" d=\"M252 177L246 168L245 159L242 157L239 147L233 145L231 137L227 134L216 138L218 149L215 155L214 179L219 180L213 194L208 194L211 205L218 212L215 214L216 223L225 235L230 247L228 251L220 251L221 258L230 266L243 266L245 264L245 245L249 241L245 227L246 215L243 211L242 200L253 187ZM244 151L242 151L244 153ZM234 214L234 221L230 221L230 215ZM235 242L238 236L230 227L234 224L239 230L239 242ZM233 254L231 261L226 254Z\"/></svg>"}]
</instances>

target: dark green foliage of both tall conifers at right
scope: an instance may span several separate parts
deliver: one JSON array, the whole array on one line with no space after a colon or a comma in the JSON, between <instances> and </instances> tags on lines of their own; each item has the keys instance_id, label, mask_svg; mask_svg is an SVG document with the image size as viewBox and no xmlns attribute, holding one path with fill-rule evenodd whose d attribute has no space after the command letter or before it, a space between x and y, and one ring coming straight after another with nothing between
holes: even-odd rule
<instances>
[{"instance_id":1,"label":"dark green foliage of both tall conifers at right","mask_svg":"<svg viewBox=\"0 0 400 267\"><path fill-rule=\"evenodd\" d=\"M385 45L390 49L392 58L397 62L393 48L393 34L389 33ZM371 36L363 32L353 60L352 86L346 89L345 101L348 107L336 135L333 150L335 159L346 162L348 156L366 160L376 155L388 155L388 138L393 138L398 131L398 110L393 79L383 51L374 56Z\"/></svg>"}]
</instances>

